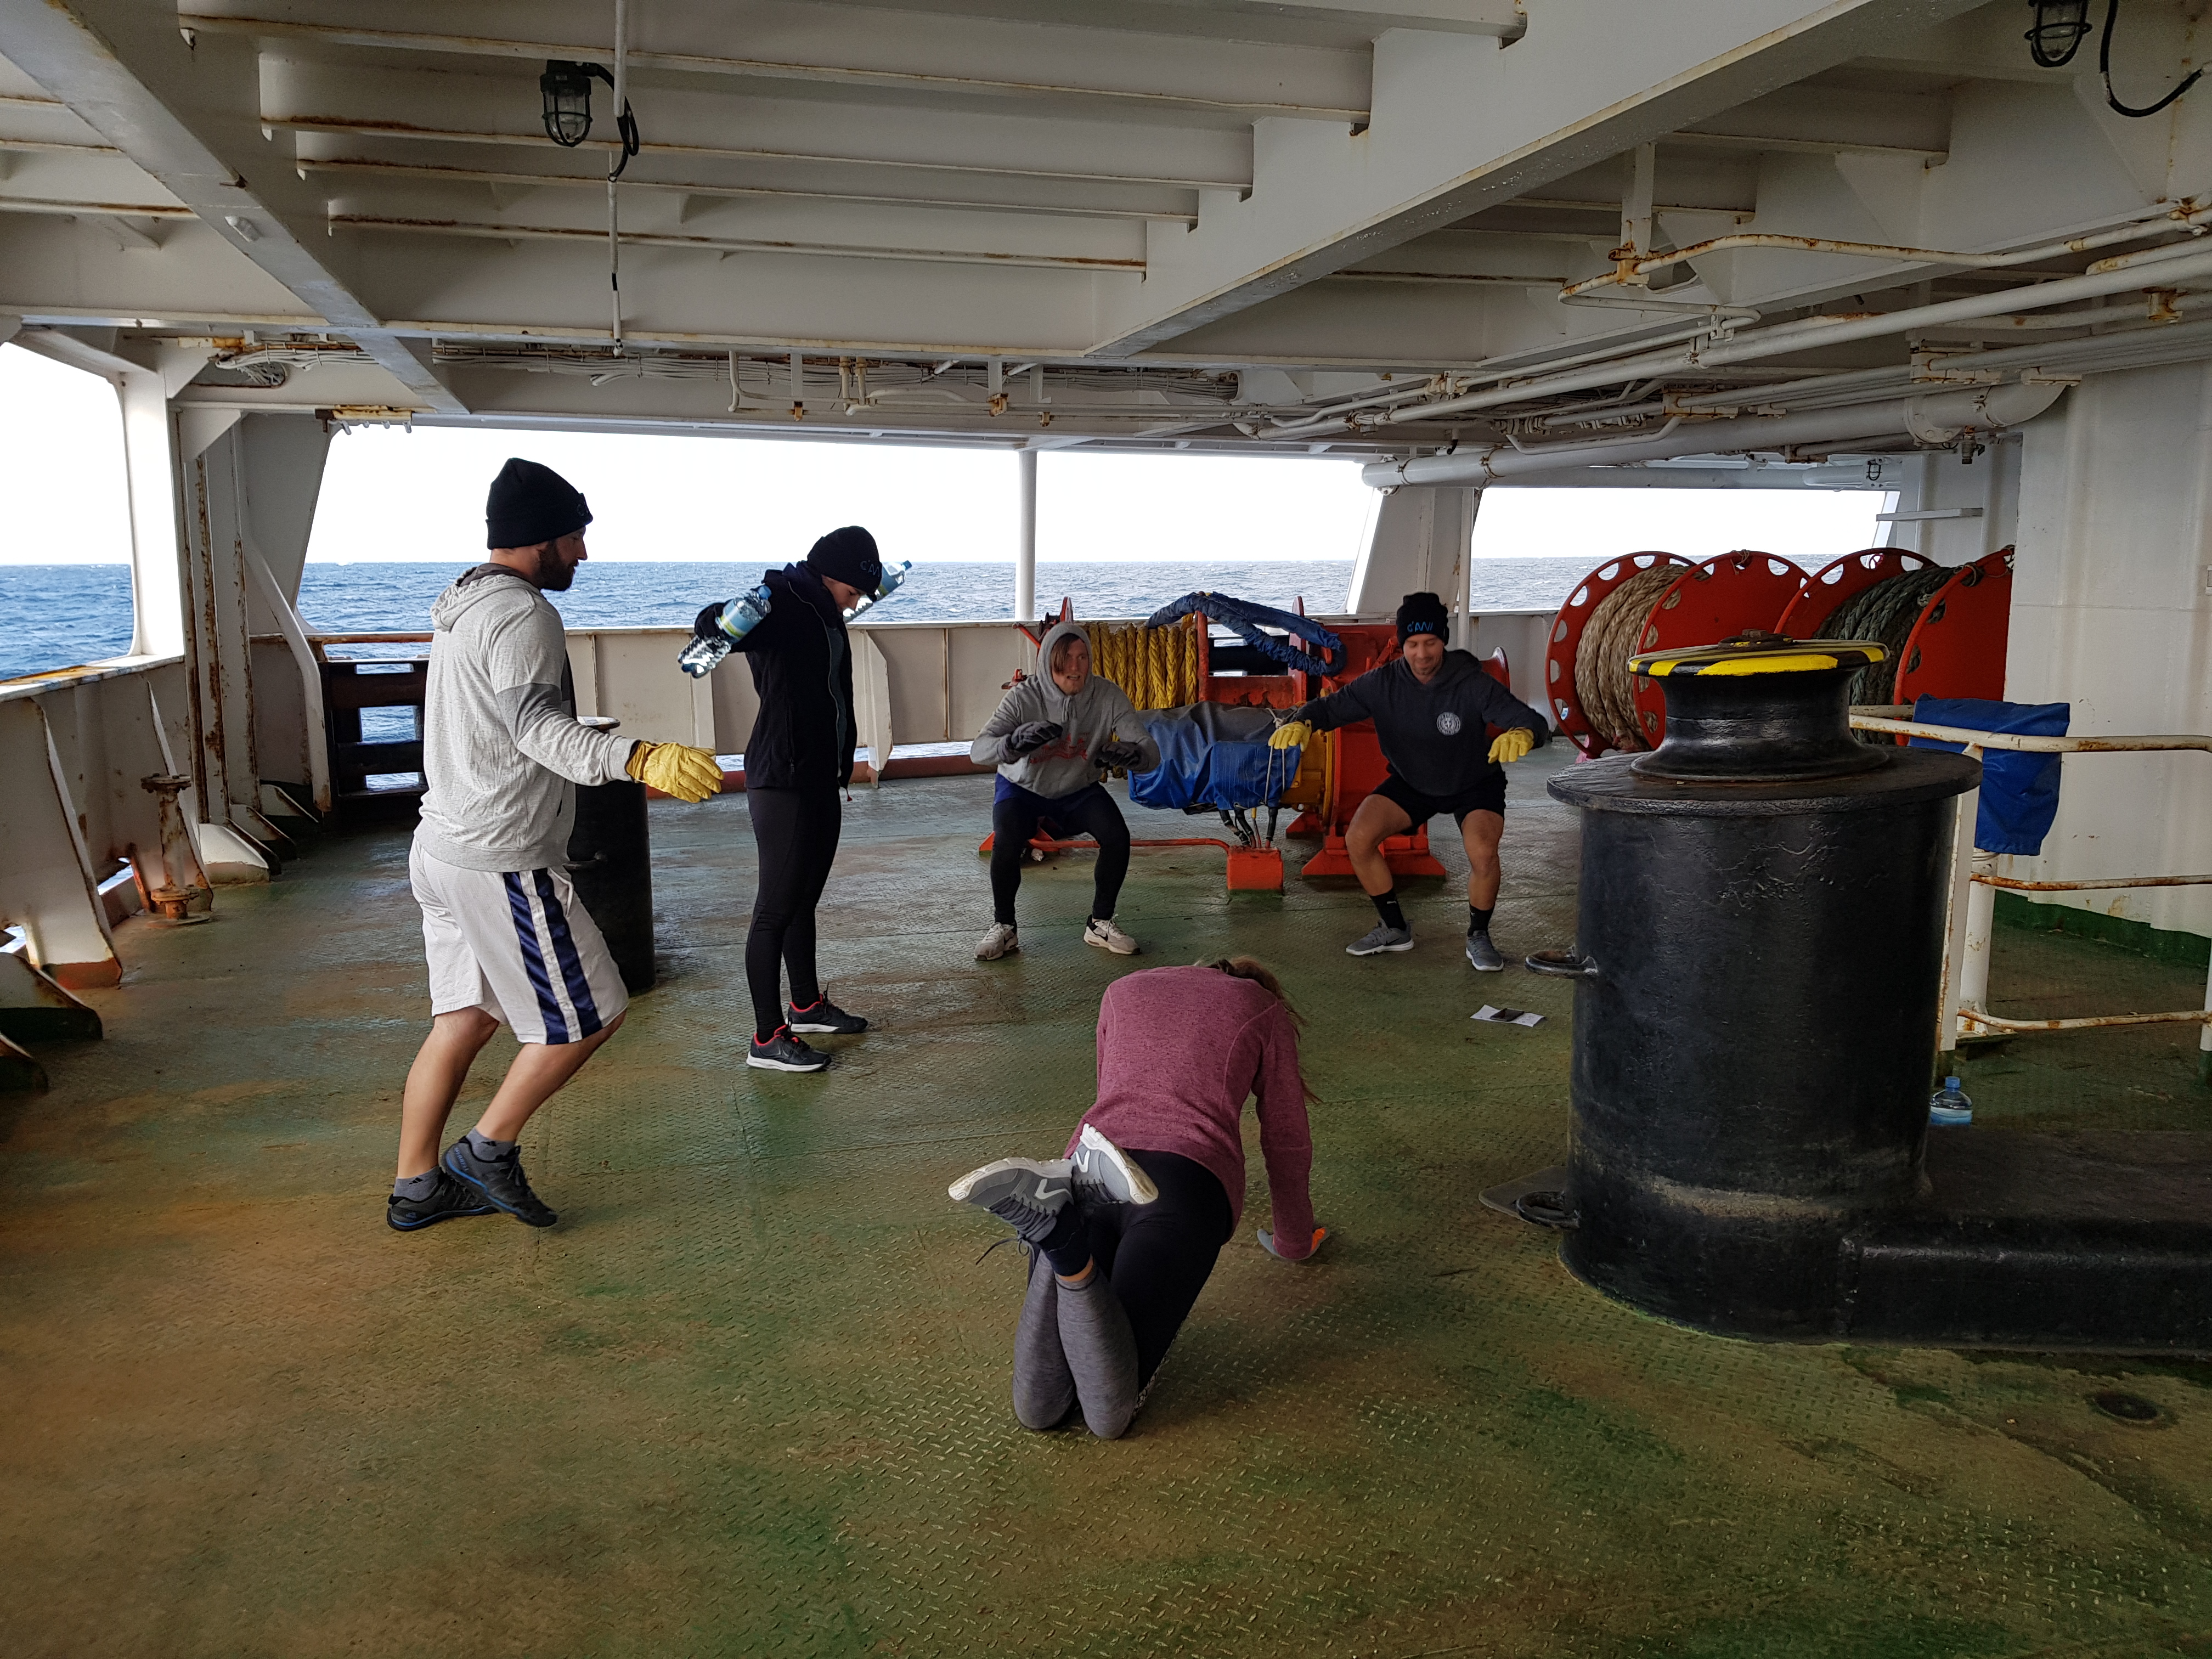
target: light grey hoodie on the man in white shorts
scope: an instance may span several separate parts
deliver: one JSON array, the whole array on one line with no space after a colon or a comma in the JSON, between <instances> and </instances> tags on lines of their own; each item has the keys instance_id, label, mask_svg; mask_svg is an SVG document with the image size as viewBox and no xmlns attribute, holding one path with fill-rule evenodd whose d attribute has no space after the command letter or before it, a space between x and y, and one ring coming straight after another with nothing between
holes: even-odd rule
<instances>
[{"instance_id":1,"label":"light grey hoodie on the man in white shorts","mask_svg":"<svg viewBox=\"0 0 2212 1659\"><path fill-rule=\"evenodd\" d=\"M476 566L429 619L416 845L462 869L566 865L575 785L624 776L635 739L577 726L560 611L513 571Z\"/></svg>"}]
</instances>

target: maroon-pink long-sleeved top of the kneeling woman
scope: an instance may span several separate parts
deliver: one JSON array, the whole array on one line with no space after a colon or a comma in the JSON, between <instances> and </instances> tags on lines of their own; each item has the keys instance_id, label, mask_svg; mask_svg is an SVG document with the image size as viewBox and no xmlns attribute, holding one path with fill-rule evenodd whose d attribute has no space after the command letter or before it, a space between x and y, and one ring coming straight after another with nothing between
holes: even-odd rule
<instances>
[{"instance_id":1,"label":"maroon-pink long-sleeved top of the kneeling woman","mask_svg":"<svg viewBox=\"0 0 2212 1659\"><path fill-rule=\"evenodd\" d=\"M1298 1082L1298 1033L1265 987L1210 967L1144 969L1099 1000L1099 1097L1084 1113L1115 1146L1206 1166L1243 1217L1243 1104L1259 1097L1276 1250L1312 1254L1305 1181L1314 1135ZM1077 1126L1077 1135L1082 1126ZM1068 1141L1068 1152L1075 1141Z\"/></svg>"}]
</instances>

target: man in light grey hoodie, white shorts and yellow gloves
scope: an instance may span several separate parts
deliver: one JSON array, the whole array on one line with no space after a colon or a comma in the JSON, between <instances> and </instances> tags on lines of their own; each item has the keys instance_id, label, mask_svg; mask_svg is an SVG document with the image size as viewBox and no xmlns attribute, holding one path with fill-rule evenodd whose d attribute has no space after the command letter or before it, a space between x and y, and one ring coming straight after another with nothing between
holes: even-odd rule
<instances>
[{"instance_id":1,"label":"man in light grey hoodie, white shorts and yellow gloves","mask_svg":"<svg viewBox=\"0 0 2212 1659\"><path fill-rule=\"evenodd\" d=\"M422 823L407 874L422 907L431 1029L407 1073L385 1221L414 1232L465 1214L557 1219L522 1175L522 1126L615 1035L628 995L568 885L575 785L633 776L703 801L721 765L681 743L582 726L568 641L544 588L584 562L591 509L568 480L509 460L484 513L491 557L431 606L422 703ZM462 1139L438 1157L469 1066L500 1024L522 1051Z\"/></svg>"}]
</instances>

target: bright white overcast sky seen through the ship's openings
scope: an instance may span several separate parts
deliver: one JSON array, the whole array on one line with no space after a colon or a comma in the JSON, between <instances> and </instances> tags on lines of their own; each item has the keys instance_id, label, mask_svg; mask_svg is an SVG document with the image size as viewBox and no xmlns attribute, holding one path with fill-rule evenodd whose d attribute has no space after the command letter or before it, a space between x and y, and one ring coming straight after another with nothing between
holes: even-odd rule
<instances>
[{"instance_id":1,"label":"bright white overcast sky seen through the ship's openings","mask_svg":"<svg viewBox=\"0 0 2212 1659\"><path fill-rule=\"evenodd\" d=\"M113 389L0 347L0 562L126 560L128 500ZM1015 460L975 449L743 438L367 427L330 445L312 560L476 560L484 487L507 456L540 460L591 498L595 560L799 557L867 524L887 557L1011 560ZM1358 465L1239 456L1046 451L1046 560L1349 560L1376 493ZM1692 560L1752 546L1827 562L1876 538L1876 491L1495 489L1475 553L1597 564L1666 549Z\"/></svg>"}]
</instances>

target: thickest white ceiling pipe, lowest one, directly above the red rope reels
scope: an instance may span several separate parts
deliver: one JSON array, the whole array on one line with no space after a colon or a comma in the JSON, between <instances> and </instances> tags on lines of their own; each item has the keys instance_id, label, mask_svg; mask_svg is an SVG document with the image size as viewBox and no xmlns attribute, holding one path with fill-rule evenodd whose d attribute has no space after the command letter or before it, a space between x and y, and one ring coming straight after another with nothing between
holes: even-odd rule
<instances>
[{"instance_id":1,"label":"thickest white ceiling pipe, lowest one, directly above the red rope reels","mask_svg":"<svg viewBox=\"0 0 2212 1659\"><path fill-rule=\"evenodd\" d=\"M1489 484L1502 478L1553 473L1579 467L1619 467L1630 460L1670 460L1730 449L1785 449L1792 445L1847 442L1851 438L1907 436L1944 442L1964 429L1995 431L2033 420L2057 403L2062 385L1995 385L1958 392L1927 392L1885 398L1845 409L1807 409L1787 416L1739 416L1690 422L1663 438L1615 438L1595 445L1548 445L1511 449L1504 445L1460 449L1416 460L1376 460L1360 469L1374 489L1398 484Z\"/></svg>"}]
</instances>

